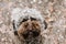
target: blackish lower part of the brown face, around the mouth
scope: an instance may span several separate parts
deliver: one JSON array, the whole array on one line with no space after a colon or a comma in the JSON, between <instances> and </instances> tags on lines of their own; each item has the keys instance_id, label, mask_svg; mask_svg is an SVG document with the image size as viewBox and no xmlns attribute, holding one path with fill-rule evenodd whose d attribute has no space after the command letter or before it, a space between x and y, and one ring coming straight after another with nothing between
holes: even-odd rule
<instances>
[{"instance_id":1,"label":"blackish lower part of the brown face, around the mouth","mask_svg":"<svg viewBox=\"0 0 66 44\"><path fill-rule=\"evenodd\" d=\"M26 31L22 35L25 40L26 38L33 38L33 37L37 37L40 35L40 32L37 32L37 31Z\"/></svg>"}]
</instances>

